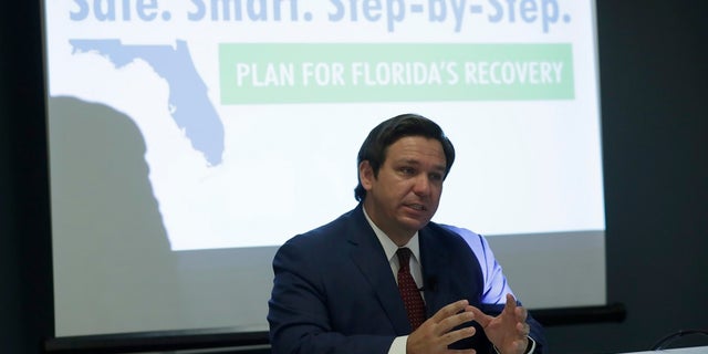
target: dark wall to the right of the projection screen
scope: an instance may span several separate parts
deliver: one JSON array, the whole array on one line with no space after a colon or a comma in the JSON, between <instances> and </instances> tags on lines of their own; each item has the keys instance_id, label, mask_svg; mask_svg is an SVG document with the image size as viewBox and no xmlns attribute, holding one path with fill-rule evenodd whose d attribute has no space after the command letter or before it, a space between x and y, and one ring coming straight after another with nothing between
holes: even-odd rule
<instances>
[{"instance_id":1,"label":"dark wall to the right of the projection screen","mask_svg":"<svg viewBox=\"0 0 708 354\"><path fill-rule=\"evenodd\" d=\"M608 300L627 319L549 329L554 353L708 330L708 2L600 0L597 11Z\"/></svg>"}]
</instances>

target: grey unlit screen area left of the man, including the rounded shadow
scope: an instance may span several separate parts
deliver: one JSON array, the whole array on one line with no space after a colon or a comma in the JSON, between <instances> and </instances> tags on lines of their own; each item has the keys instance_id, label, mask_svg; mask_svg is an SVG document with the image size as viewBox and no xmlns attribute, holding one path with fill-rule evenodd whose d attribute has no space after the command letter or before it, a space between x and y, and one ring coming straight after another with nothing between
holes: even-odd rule
<instances>
[{"instance_id":1,"label":"grey unlit screen area left of the man, including the rounded shadow","mask_svg":"<svg viewBox=\"0 0 708 354\"><path fill-rule=\"evenodd\" d=\"M277 248L171 251L133 119L73 97L49 112L56 336L266 331Z\"/></svg>"}]
</instances>

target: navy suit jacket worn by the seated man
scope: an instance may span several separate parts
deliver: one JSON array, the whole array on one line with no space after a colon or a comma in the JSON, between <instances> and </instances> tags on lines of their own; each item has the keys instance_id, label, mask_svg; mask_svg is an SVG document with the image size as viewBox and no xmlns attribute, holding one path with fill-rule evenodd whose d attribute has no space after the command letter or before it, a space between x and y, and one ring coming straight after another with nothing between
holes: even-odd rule
<instances>
[{"instance_id":1,"label":"navy suit jacket worn by the seated man","mask_svg":"<svg viewBox=\"0 0 708 354\"><path fill-rule=\"evenodd\" d=\"M501 312L503 305L480 303L482 272L461 237L429 222L418 238L427 317L462 299L486 313ZM361 204L285 242L273 271L268 321L274 354L385 354L396 336L412 332L388 259ZM541 353L540 325L533 319L529 323ZM455 346L493 352L481 327L472 325L477 334Z\"/></svg>"}]
</instances>

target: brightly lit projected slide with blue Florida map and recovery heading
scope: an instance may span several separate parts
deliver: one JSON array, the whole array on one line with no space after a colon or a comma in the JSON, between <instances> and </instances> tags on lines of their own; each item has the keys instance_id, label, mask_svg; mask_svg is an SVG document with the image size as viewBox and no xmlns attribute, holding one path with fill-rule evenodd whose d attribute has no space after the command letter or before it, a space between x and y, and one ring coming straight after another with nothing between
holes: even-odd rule
<instances>
[{"instance_id":1,"label":"brightly lit projected slide with blue Florida map and recovery heading","mask_svg":"<svg viewBox=\"0 0 708 354\"><path fill-rule=\"evenodd\" d=\"M173 250L280 244L348 210L365 134L408 112L459 152L436 220L604 229L589 1L45 8L50 95L135 122Z\"/></svg>"}]
</instances>

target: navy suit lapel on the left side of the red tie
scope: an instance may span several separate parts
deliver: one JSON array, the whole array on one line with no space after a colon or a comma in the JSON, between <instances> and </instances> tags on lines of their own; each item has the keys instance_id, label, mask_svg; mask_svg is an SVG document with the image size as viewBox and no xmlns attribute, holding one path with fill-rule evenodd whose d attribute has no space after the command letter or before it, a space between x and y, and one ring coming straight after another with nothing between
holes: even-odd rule
<instances>
[{"instance_id":1,"label":"navy suit lapel on the left side of the red tie","mask_svg":"<svg viewBox=\"0 0 708 354\"><path fill-rule=\"evenodd\" d=\"M381 242L364 217L361 205L352 214L352 226L348 230L347 241L352 246L352 261L369 281L373 292L396 331L396 335L409 334L410 324L396 285L396 279L391 271Z\"/></svg>"}]
</instances>

